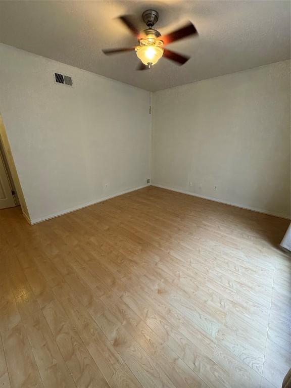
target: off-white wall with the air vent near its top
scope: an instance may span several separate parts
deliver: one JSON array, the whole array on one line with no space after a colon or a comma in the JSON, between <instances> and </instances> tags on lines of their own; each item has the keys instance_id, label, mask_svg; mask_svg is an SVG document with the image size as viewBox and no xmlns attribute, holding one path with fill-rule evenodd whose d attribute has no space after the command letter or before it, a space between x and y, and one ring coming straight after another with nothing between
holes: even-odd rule
<instances>
[{"instance_id":1,"label":"off-white wall with the air vent near its top","mask_svg":"<svg viewBox=\"0 0 291 388\"><path fill-rule=\"evenodd\" d=\"M146 185L149 92L4 44L0 58L0 112L32 223Z\"/></svg>"}]
</instances>

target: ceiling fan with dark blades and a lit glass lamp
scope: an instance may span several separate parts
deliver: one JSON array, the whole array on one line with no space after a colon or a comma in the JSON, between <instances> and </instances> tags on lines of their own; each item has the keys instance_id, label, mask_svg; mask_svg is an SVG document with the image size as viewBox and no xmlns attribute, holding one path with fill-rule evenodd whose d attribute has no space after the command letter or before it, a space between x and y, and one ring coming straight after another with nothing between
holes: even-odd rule
<instances>
[{"instance_id":1,"label":"ceiling fan with dark blades and a lit glass lamp","mask_svg":"<svg viewBox=\"0 0 291 388\"><path fill-rule=\"evenodd\" d=\"M142 13L142 19L147 24L147 29L138 31L129 15L120 16L119 20L125 24L130 32L137 38L138 45L134 47L122 47L120 49L102 50L106 55L124 53L127 51L136 51L137 57L142 62L137 70L145 70L155 65L158 60L164 56L165 58L174 61L178 65L183 65L190 57L175 53L174 51L165 49L164 47L176 40L186 38L190 35L198 35L195 26L188 22L183 27L166 35L161 35L159 31L153 27L159 19L159 14L155 10L147 10Z\"/></svg>"}]
</instances>

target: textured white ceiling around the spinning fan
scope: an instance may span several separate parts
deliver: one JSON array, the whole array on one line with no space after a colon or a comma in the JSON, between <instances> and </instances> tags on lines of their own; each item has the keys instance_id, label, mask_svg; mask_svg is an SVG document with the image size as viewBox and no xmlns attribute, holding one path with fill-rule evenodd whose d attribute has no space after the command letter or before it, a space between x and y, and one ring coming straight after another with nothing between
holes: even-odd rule
<instances>
[{"instance_id":1,"label":"textured white ceiling around the spinning fan","mask_svg":"<svg viewBox=\"0 0 291 388\"><path fill-rule=\"evenodd\" d=\"M168 46L191 59L179 67L162 58L136 71L135 52L101 49L137 42L115 18L160 13L155 28L170 32L190 20L198 38ZM290 2L243 1L0 1L0 41L147 90L160 90L290 58Z\"/></svg>"}]
</instances>

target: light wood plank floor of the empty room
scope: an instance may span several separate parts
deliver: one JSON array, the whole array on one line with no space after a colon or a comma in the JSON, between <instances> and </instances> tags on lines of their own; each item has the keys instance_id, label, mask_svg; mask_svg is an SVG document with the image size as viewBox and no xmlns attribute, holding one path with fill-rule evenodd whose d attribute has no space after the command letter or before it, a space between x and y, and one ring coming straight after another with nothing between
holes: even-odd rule
<instances>
[{"instance_id":1,"label":"light wood plank floor of the empty room","mask_svg":"<svg viewBox=\"0 0 291 388\"><path fill-rule=\"evenodd\" d=\"M155 187L34 226L0 211L0 386L279 388L287 226Z\"/></svg>"}]
</instances>

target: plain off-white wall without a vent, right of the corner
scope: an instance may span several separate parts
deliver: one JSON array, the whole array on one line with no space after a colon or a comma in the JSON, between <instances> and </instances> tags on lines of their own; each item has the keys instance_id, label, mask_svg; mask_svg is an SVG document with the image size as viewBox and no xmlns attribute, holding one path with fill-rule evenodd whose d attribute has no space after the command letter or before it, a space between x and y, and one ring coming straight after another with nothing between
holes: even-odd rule
<instances>
[{"instance_id":1,"label":"plain off-white wall without a vent, right of the corner","mask_svg":"<svg viewBox=\"0 0 291 388\"><path fill-rule=\"evenodd\" d=\"M153 113L154 184L290 216L290 61L155 92Z\"/></svg>"}]
</instances>

